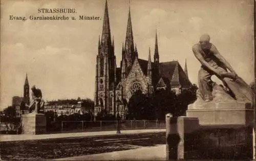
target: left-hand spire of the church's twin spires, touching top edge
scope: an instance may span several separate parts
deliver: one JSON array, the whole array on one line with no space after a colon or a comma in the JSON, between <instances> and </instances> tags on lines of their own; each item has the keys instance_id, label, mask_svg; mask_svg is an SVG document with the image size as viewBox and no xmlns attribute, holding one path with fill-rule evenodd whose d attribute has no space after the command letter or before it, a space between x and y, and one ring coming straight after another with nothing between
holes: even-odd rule
<instances>
[{"instance_id":1,"label":"left-hand spire of the church's twin spires, touching top edge","mask_svg":"<svg viewBox=\"0 0 256 161\"><path fill-rule=\"evenodd\" d=\"M103 44L104 48L109 47L111 45L110 20L109 20L109 9L108 9L108 1L107 0L105 2L101 43Z\"/></svg>"}]
</instances>

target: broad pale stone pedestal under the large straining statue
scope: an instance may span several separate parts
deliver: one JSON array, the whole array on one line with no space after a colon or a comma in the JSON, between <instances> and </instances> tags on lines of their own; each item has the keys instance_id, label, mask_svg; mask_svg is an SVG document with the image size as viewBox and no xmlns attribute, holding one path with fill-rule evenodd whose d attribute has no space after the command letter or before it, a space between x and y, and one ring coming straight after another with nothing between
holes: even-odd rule
<instances>
[{"instance_id":1,"label":"broad pale stone pedestal under the large straining statue","mask_svg":"<svg viewBox=\"0 0 256 161\"><path fill-rule=\"evenodd\" d=\"M249 103L207 102L190 104L187 117L196 117L200 125L250 125L254 122L254 110Z\"/></svg>"}]
</instances>

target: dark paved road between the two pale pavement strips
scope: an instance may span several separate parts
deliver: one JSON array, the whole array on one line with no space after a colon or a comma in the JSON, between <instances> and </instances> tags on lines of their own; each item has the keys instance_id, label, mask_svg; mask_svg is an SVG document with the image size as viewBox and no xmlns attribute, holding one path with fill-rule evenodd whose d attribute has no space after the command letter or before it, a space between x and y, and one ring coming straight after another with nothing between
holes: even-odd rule
<instances>
[{"instance_id":1,"label":"dark paved road between the two pale pavement strips","mask_svg":"<svg viewBox=\"0 0 256 161\"><path fill-rule=\"evenodd\" d=\"M1 143L1 158L55 159L165 144L165 132L69 137Z\"/></svg>"}]
</instances>

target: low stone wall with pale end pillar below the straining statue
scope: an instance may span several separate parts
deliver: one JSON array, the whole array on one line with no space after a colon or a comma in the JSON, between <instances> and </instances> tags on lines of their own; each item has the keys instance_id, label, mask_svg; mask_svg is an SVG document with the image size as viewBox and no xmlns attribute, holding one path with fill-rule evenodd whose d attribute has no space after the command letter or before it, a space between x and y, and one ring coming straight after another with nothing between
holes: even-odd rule
<instances>
[{"instance_id":1,"label":"low stone wall with pale end pillar below the straining statue","mask_svg":"<svg viewBox=\"0 0 256 161\"><path fill-rule=\"evenodd\" d=\"M252 126L202 126L198 118L167 118L166 143L166 160L245 160L253 155Z\"/></svg>"}]
</instances>

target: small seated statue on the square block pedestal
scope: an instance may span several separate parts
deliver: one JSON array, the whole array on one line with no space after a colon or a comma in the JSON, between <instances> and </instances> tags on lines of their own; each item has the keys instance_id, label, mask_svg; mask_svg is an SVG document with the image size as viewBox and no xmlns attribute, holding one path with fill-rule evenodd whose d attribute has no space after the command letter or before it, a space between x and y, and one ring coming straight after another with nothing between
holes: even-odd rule
<instances>
[{"instance_id":1,"label":"small seated statue on the square block pedestal","mask_svg":"<svg viewBox=\"0 0 256 161\"><path fill-rule=\"evenodd\" d=\"M45 101L42 100L41 90L33 86L32 90L32 100L29 105L29 113L36 112L39 113L40 109L44 108Z\"/></svg>"}]
</instances>

